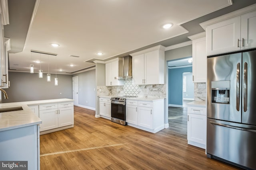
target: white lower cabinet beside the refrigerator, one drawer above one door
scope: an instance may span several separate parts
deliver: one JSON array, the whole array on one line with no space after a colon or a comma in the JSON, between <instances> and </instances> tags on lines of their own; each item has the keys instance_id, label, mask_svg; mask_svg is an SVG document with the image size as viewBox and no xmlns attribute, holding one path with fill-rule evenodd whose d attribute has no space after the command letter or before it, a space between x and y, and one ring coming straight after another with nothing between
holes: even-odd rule
<instances>
[{"instance_id":1,"label":"white lower cabinet beside the refrigerator, one drawer above one door","mask_svg":"<svg viewBox=\"0 0 256 170\"><path fill-rule=\"evenodd\" d=\"M206 148L206 107L188 106L188 144Z\"/></svg>"}]
</instances>

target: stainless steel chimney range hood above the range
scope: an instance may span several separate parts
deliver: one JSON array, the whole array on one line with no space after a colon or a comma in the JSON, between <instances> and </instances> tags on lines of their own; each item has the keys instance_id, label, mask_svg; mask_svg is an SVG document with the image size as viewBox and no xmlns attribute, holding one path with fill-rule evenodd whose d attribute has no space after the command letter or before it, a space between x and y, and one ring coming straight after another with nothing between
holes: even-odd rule
<instances>
[{"instance_id":1,"label":"stainless steel chimney range hood above the range","mask_svg":"<svg viewBox=\"0 0 256 170\"><path fill-rule=\"evenodd\" d=\"M123 75L115 77L118 80L132 79L132 56L123 57Z\"/></svg>"}]
</instances>

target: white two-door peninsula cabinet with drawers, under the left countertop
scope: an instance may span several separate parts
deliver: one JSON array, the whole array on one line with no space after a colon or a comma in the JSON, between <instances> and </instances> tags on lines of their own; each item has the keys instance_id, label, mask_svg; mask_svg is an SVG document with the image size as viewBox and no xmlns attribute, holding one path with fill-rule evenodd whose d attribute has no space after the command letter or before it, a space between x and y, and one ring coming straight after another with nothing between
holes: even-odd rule
<instances>
[{"instance_id":1,"label":"white two-door peninsula cabinet with drawers, under the left countertop","mask_svg":"<svg viewBox=\"0 0 256 170\"><path fill-rule=\"evenodd\" d=\"M42 120L40 132L66 129L62 127L74 127L74 102L40 104L39 117ZM49 133L52 131L49 131Z\"/></svg>"}]
</instances>

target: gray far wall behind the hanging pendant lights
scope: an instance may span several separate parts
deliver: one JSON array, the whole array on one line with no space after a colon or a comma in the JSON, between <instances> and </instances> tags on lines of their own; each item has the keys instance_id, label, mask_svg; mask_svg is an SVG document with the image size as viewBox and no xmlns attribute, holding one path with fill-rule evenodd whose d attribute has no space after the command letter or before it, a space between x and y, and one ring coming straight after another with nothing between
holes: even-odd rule
<instances>
[{"instance_id":1,"label":"gray far wall behind the hanging pendant lights","mask_svg":"<svg viewBox=\"0 0 256 170\"><path fill-rule=\"evenodd\" d=\"M38 73L9 72L10 87L6 90L8 99L2 103L24 102L33 100L72 99L72 75L57 74L58 86L54 86L55 74L51 82L46 82L46 74L38 78Z\"/></svg>"}]
</instances>

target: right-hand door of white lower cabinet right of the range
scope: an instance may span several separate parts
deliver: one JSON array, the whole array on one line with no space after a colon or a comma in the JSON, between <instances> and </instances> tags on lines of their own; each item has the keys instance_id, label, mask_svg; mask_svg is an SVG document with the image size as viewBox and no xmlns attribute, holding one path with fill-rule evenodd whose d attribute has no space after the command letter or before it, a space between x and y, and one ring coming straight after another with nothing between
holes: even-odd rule
<instances>
[{"instance_id":1,"label":"right-hand door of white lower cabinet right of the range","mask_svg":"<svg viewBox=\"0 0 256 170\"><path fill-rule=\"evenodd\" d=\"M153 129L153 108L138 107L138 125Z\"/></svg>"}]
</instances>

